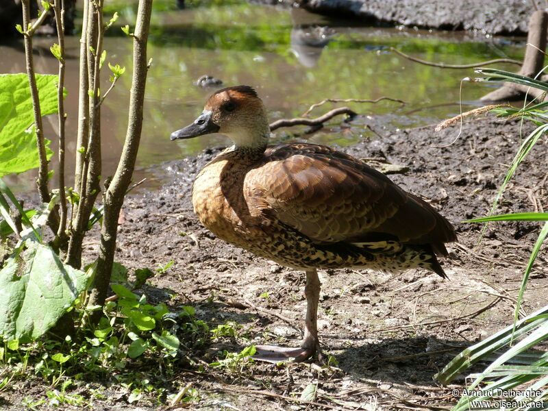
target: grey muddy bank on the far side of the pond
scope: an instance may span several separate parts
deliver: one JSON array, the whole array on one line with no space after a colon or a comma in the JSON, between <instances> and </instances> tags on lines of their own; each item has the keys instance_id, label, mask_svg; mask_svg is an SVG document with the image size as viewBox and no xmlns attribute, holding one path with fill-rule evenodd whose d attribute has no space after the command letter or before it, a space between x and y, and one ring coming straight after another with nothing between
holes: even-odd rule
<instances>
[{"instance_id":1,"label":"grey muddy bank on the far side of the pond","mask_svg":"<svg viewBox=\"0 0 548 411\"><path fill-rule=\"evenodd\" d=\"M527 33L534 8L521 0L252 0L303 8L329 17L356 18L364 24L477 30L486 34Z\"/></svg>"}]
</instances>

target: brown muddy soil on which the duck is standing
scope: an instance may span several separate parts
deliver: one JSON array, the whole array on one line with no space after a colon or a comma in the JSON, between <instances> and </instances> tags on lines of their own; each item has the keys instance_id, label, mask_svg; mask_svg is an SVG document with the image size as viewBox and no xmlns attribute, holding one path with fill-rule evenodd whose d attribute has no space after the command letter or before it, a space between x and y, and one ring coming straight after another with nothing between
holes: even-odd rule
<instances>
[{"instance_id":1,"label":"brown muddy soil on which the duck is standing","mask_svg":"<svg viewBox=\"0 0 548 411\"><path fill-rule=\"evenodd\" d=\"M540 225L493 223L475 249L482 225L462 221L488 214L519 147L520 124L501 123L492 117L469 120L453 145L438 148L432 145L449 144L458 127L435 134L433 126L386 130L375 119L366 122L382 137L368 138L344 151L357 158L386 157L390 163L408 167L406 173L390 177L432 203L456 226L458 243L449 245L451 260L443 261L450 280L424 271L401 275L321 271L321 344L338 365L321 368L314 360L286 367L256 363L242 373L208 367L199 373L181 364L177 381L170 384L194 384L201 401L190 408L447 408L456 401L451 389L462 389L464 377L443 388L433 381L433 375L462 347L512 322L516 290ZM363 130L364 123L365 119L357 119L351 128ZM524 127L521 133L527 135L530 129ZM546 138L539 140L519 167L497 213L548 206L546 144ZM240 332L249 340L213 340L210 347L192 353L201 363L223 358L223 349L238 352L249 344L297 346L306 304L303 273L216 239L192 212L192 181L218 151L208 149L197 158L163 164L161 173L171 176L169 183L127 200L116 256L130 269L155 269L174 260L166 273L138 292L145 292L154 302L169 303L173 310L194 306L198 318L212 325L227 321L242 325ZM90 253L96 249L97 244L88 244ZM540 253L525 293L527 312L545 305L546 261ZM265 292L267 297L261 297ZM304 406L290 399L298 399L308 384L318 384L314 399L318 404ZM356 408L359 405L362 408ZM105 403L104 409L134 408L120 399L108 406Z\"/></svg>"}]
</instances>

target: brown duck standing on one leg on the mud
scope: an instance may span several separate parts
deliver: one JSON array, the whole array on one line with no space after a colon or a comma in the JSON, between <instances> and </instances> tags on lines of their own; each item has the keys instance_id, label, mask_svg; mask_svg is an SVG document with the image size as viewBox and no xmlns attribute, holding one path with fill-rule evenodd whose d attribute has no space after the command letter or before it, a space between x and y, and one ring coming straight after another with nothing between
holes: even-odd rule
<instances>
[{"instance_id":1,"label":"brown duck standing on one leg on the mud","mask_svg":"<svg viewBox=\"0 0 548 411\"><path fill-rule=\"evenodd\" d=\"M266 110L253 88L215 92L194 123L171 140L221 133L234 145L196 177L192 203L216 236L306 273L304 338L299 348L257 346L256 358L303 361L319 349L317 269L421 268L447 277L456 234L443 216L364 162L323 145L268 145Z\"/></svg>"}]
</instances>

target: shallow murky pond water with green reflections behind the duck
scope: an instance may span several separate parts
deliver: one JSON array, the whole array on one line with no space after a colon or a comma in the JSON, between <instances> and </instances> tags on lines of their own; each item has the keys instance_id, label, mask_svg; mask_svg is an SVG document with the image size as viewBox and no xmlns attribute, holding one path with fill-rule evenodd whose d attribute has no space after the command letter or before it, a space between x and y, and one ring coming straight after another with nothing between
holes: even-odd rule
<instances>
[{"instance_id":1,"label":"shallow murky pond water with green reflections behind the duck","mask_svg":"<svg viewBox=\"0 0 548 411\"><path fill-rule=\"evenodd\" d=\"M523 38L492 38L480 34L429 32L417 29L362 27L356 21L330 19L304 12L247 2L216 4L195 1L177 10L175 1L155 1L149 38L153 59L147 82L145 122L135 179L149 176L149 168L164 160L196 154L205 147L227 144L220 135L171 142L169 134L190 123L214 89L195 86L201 75L212 75L223 86L248 84L258 91L271 120L300 116L312 103L325 98L376 99L387 96L406 105L383 101L377 104L347 103L360 114L380 116L388 127L412 127L435 123L459 112L460 79L473 76L469 70L438 69L405 60L389 51L395 47L416 58L447 64L469 64L492 58L521 58ZM103 175L112 174L123 145L132 41L119 29L134 21L134 2L109 6L121 19L105 38L107 61L128 70L103 103ZM36 38L37 73L57 73L57 60L49 52L53 38ZM66 111L68 112L68 158L75 149L77 121L77 53L79 35L67 40L68 54ZM0 44L0 73L25 71L22 42ZM515 66L501 66L515 71ZM108 87L108 70L103 70L103 87ZM478 105L488 86L465 84L463 110ZM323 105L312 116L333 105ZM339 123L336 118L331 123ZM55 149L54 116L50 116L47 137ZM367 138L365 121L340 132L322 131L309 140L349 145ZM276 140L288 140L303 128L280 129ZM71 138L73 137L73 138ZM302 136L301 136L302 138ZM435 138L435 136L433 136ZM73 164L67 164L71 170ZM71 173L69 173L71 174ZM147 186L158 186L158 173ZM8 177L16 189L32 186L34 173ZM71 184L71 182L69 182Z\"/></svg>"}]
</instances>

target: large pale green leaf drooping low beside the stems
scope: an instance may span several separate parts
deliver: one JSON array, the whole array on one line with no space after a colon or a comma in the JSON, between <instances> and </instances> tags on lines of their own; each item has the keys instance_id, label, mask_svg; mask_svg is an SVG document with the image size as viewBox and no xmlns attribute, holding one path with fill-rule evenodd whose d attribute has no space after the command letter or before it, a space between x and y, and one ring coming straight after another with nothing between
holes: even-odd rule
<instances>
[{"instance_id":1,"label":"large pale green leaf drooping low beside the stems","mask_svg":"<svg viewBox=\"0 0 548 411\"><path fill-rule=\"evenodd\" d=\"M45 245L27 240L0 271L0 340L35 339L86 288L84 271L64 265Z\"/></svg>"}]
</instances>

